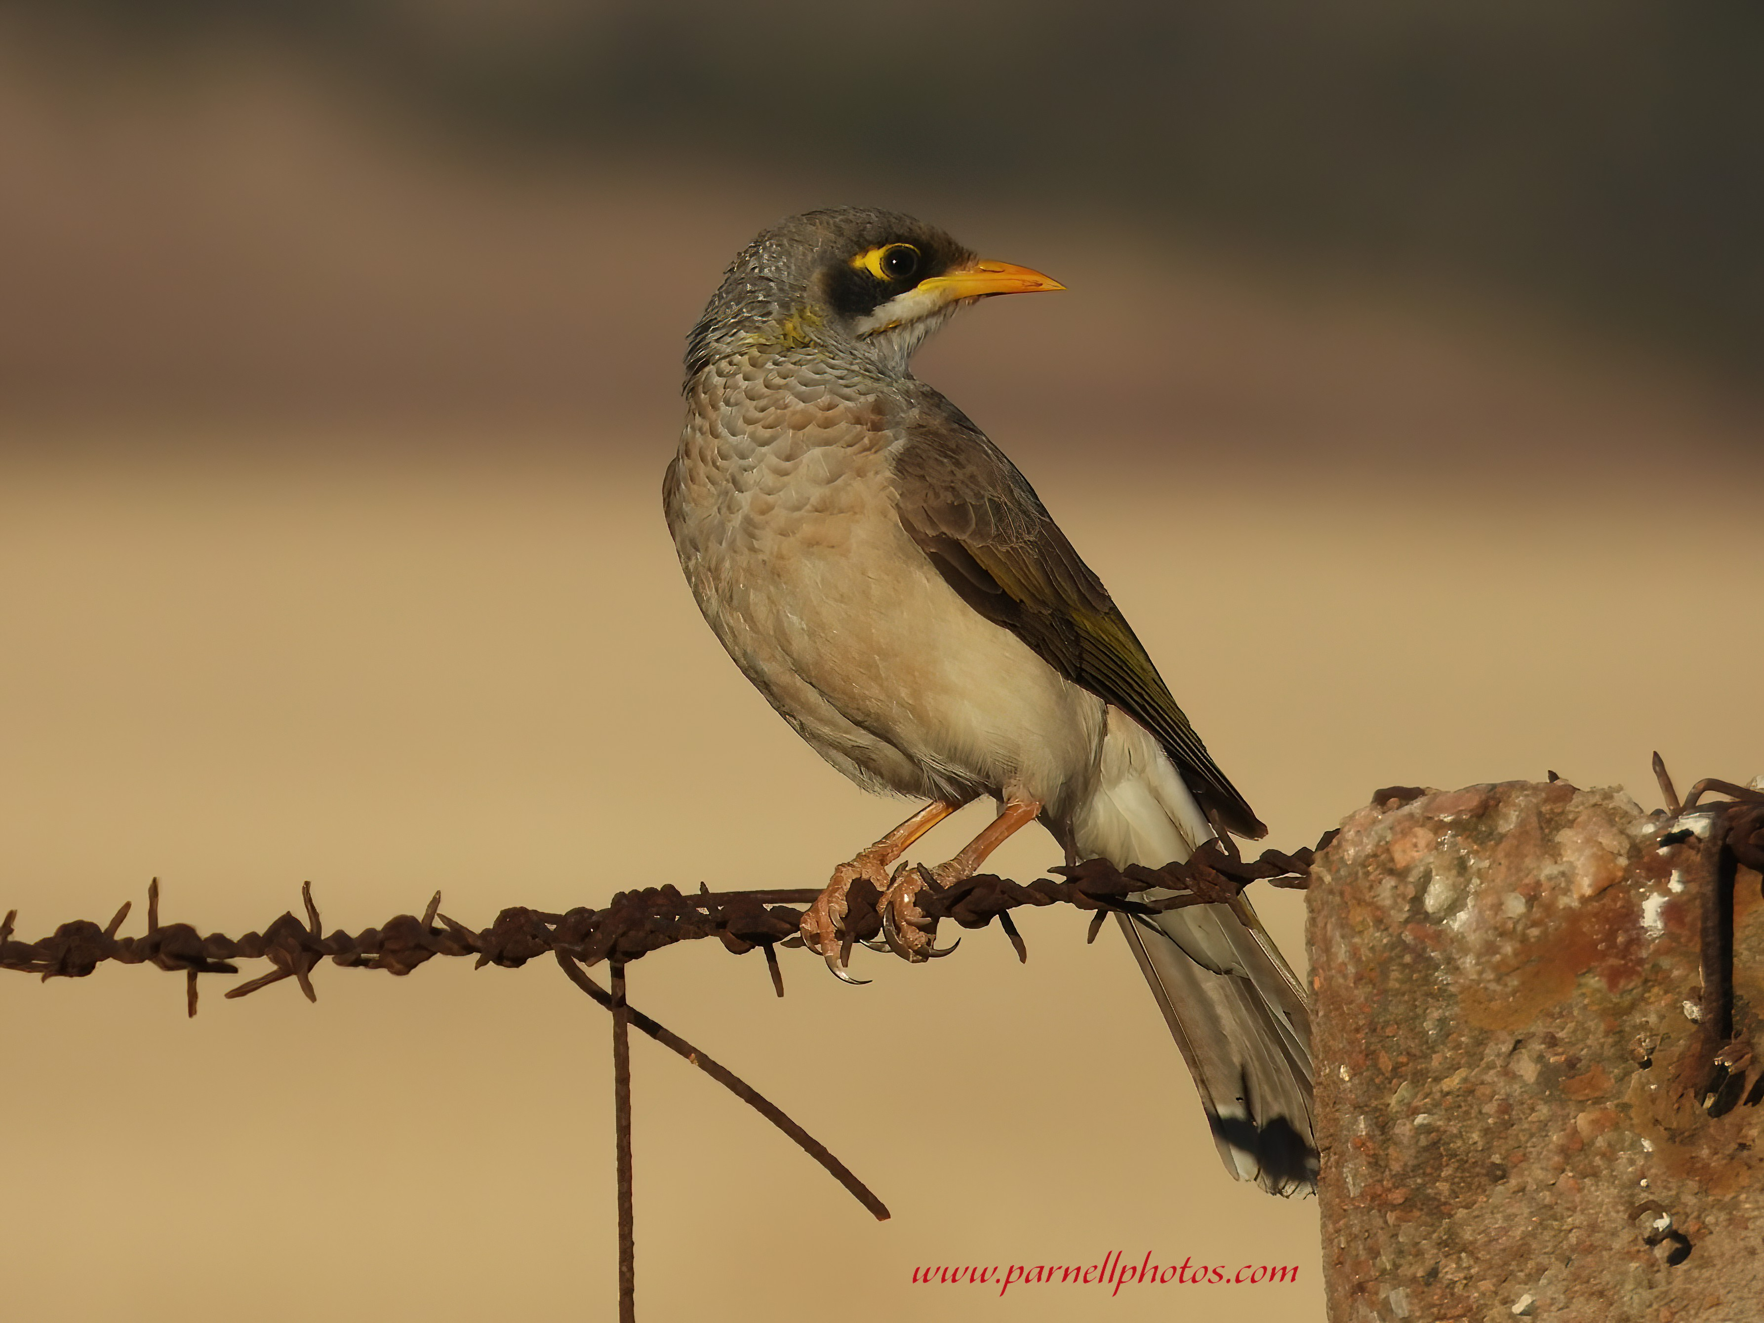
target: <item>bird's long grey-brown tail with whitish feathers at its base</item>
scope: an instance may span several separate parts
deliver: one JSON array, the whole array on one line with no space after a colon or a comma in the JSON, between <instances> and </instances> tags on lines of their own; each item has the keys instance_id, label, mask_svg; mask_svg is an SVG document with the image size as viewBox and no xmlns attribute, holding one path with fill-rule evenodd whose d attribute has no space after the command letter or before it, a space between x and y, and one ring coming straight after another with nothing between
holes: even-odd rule
<instances>
[{"instance_id":1,"label":"bird's long grey-brown tail with whitish feathers at its base","mask_svg":"<svg viewBox=\"0 0 1764 1323\"><path fill-rule=\"evenodd\" d=\"M1187 859L1212 827L1157 741L1113 707L1108 720L1101 785L1073 822L1078 856L1117 868ZM1118 917L1226 1170L1275 1194L1314 1189L1311 1009L1249 901Z\"/></svg>"}]
</instances>

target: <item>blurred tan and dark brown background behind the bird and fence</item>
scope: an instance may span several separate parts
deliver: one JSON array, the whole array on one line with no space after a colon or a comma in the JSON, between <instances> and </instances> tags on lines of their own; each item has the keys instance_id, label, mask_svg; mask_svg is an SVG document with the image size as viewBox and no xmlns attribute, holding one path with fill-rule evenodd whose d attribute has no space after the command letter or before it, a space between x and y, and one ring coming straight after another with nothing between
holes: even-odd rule
<instances>
[{"instance_id":1,"label":"blurred tan and dark brown background behind the bird and fence","mask_svg":"<svg viewBox=\"0 0 1764 1323\"><path fill-rule=\"evenodd\" d=\"M1653 748L1681 785L1764 771L1729 697L1764 646L1755 16L815 14L0 9L25 938L125 898L139 931L152 875L231 933L303 878L351 930L436 887L483 924L817 886L901 817L739 679L658 508L723 265L838 201L1071 288L967 314L921 374L1037 483L1272 843L1374 785L1554 769L1653 804ZM1000 870L1055 861L1025 833ZM1263 903L1297 956L1302 905ZM646 1318L1321 1318L1316 1205L1226 1180L1120 938L1020 923L1027 968L983 933L861 953L863 990L785 953L783 1002L757 954L633 967L894 1210L639 1041ZM203 986L185 1021L152 970L0 977L11 1316L610 1314L607 1023L554 970ZM910 1284L1117 1249L1300 1284Z\"/></svg>"}]
</instances>

